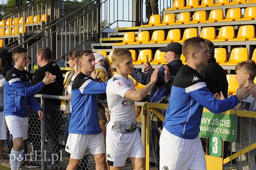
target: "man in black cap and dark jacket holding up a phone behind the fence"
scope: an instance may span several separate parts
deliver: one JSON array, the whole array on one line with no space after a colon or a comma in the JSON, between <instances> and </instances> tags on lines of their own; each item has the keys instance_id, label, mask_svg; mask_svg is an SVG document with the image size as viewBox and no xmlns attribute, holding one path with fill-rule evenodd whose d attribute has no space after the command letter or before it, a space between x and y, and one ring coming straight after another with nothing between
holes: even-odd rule
<instances>
[{"instance_id":1,"label":"man in black cap and dark jacket holding up a phone behind the fence","mask_svg":"<svg viewBox=\"0 0 256 170\"><path fill-rule=\"evenodd\" d=\"M166 62L168 63L167 65L169 68L171 67L173 70L173 76L177 74L177 72L180 70L180 68L183 66L181 60L180 60L180 55L182 54L182 45L178 42L171 42L168 44L166 47L159 48L161 52L165 52L164 57ZM143 85L147 85L150 82L150 77L153 73L153 68L149 63L145 64L145 70L147 73L144 73L137 68L133 68L133 73L131 74L132 78L134 78L136 81ZM152 90L150 91L149 94L149 99L148 102L150 102L152 96L154 93L164 85L164 67L163 65L159 68L158 74L157 74L157 83L153 86ZM153 150L153 155L156 159L156 166L158 167L159 170L159 144L156 143L155 139L155 133L154 129L157 127L162 126L163 122L160 121L159 119L156 119L156 116L152 114L150 116L150 136L151 136L151 144L152 144L152 150Z\"/></svg>"}]
</instances>

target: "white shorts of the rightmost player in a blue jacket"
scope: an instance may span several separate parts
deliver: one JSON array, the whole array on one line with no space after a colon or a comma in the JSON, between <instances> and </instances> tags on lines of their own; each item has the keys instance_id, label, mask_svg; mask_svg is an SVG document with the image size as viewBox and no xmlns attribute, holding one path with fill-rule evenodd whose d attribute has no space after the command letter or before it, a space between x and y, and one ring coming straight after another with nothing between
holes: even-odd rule
<instances>
[{"instance_id":1,"label":"white shorts of the rightmost player in a blue jacket","mask_svg":"<svg viewBox=\"0 0 256 170\"><path fill-rule=\"evenodd\" d=\"M199 137L184 139L165 128L160 136L160 169L206 170L206 161Z\"/></svg>"}]
</instances>

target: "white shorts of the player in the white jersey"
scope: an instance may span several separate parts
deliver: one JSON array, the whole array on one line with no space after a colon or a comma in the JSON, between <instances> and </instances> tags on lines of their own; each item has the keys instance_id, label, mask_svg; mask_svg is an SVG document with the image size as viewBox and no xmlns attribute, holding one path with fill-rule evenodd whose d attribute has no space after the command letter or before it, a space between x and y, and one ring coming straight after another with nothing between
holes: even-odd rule
<instances>
[{"instance_id":1,"label":"white shorts of the player in the white jersey","mask_svg":"<svg viewBox=\"0 0 256 170\"><path fill-rule=\"evenodd\" d=\"M124 166L127 158L145 158L145 150L140 138L140 132L123 134L111 130L107 126L106 155L109 166Z\"/></svg>"}]
</instances>

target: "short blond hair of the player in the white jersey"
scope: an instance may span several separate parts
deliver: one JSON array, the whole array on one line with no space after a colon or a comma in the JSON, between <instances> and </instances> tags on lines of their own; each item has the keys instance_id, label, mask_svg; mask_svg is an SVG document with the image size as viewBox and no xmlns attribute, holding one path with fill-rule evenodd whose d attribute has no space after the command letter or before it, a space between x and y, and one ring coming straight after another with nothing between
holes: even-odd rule
<instances>
[{"instance_id":1,"label":"short blond hair of the player in the white jersey","mask_svg":"<svg viewBox=\"0 0 256 170\"><path fill-rule=\"evenodd\" d=\"M120 63L122 60L129 57L132 57L132 53L127 48L116 48L111 55L114 64Z\"/></svg>"}]
</instances>

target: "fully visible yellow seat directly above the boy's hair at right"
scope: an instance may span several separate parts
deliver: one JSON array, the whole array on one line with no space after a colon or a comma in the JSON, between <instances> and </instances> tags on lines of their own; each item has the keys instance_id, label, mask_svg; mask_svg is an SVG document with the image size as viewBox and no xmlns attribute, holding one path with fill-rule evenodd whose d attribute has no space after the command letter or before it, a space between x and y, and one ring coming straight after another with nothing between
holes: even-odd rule
<instances>
[{"instance_id":1,"label":"fully visible yellow seat directly above the boy's hair at right","mask_svg":"<svg viewBox=\"0 0 256 170\"><path fill-rule=\"evenodd\" d=\"M230 58L226 63L220 63L220 65L237 65L242 61L249 60L248 49L239 47L233 48L230 54Z\"/></svg>"}]
</instances>

